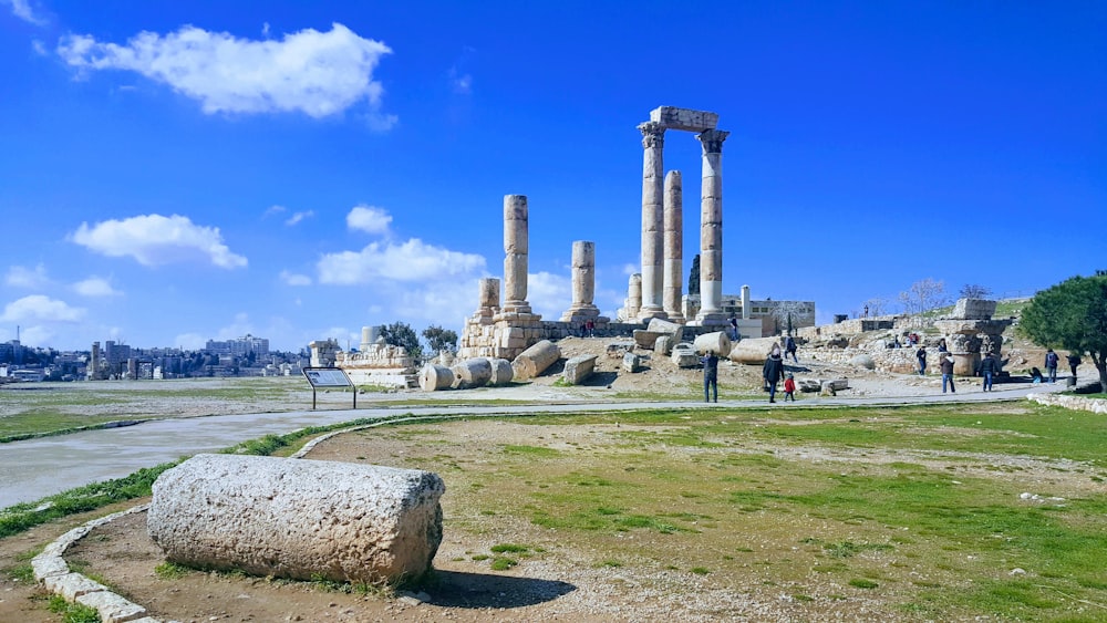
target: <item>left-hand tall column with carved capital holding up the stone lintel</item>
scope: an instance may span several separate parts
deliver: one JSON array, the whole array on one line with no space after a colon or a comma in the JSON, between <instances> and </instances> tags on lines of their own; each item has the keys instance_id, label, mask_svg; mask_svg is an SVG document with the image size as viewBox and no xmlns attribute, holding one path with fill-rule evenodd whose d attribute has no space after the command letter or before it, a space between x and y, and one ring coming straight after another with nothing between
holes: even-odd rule
<instances>
[{"instance_id":1,"label":"left-hand tall column with carved capital holding up the stone lintel","mask_svg":"<svg viewBox=\"0 0 1107 623\"><path fill-rule=\"evenodd\" d=\"M665 126L646 122L642 132L642 308L640 320L665 318L661 304L664 246L664 163Z\"/></svg>"}]
</instances>

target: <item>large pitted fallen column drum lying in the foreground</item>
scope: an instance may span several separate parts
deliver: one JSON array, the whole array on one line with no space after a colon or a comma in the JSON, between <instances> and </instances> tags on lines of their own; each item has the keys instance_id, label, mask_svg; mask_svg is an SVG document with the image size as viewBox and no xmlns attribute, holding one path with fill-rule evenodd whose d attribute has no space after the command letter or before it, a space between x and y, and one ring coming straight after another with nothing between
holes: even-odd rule
<instances>
[{"instance_id":1,"label":"large pitted fallen column drum lying in the foreground","mask_svg":"<svg viewBox=\"0 0 1107 623\"><path fill-rule=\"evenodd\" d=\"M196 455L154 482L146 528L189 567L338 582L417 578L442 541L436 474Z\"/></svg>"}]
</instances>

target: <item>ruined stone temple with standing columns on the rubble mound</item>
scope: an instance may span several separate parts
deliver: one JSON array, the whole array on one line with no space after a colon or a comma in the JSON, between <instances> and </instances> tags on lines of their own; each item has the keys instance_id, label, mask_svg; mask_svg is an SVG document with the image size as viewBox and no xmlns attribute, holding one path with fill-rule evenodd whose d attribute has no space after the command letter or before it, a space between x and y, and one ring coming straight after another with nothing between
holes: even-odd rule
<instances>
[{"instance_id":1,"label":"ruined stone temple with standing columns on the rubble mound","mask_svg":"<svg viewBox=\"0 0 1107 623\"><path fill-rule=\"evenodd\" d=\"M572 302L560 321L544 321L527 302L527 197L504 198L504 302L500 280L482 279L477 310L465 320L458 356L514 359L541 340L579 335L590 323L594 334L627 335L652 319L686 325L687 334L720 331L735 318L744 338L761 338L784 329L815 324L810 301L751 301L723 294L723 142L718 115L661 106L638 126L642 134L641 273L631 276L625 304L615 322L600 315L596 293L596 245L572 243ZM700 190L700 290L683 295L683 181L681 172L664 173L664 135L669 129L694 132L702 148ZM758 304L762 303L762 304ZM779 312L788 307L787 316Z\"/></svg>"}]
</instances>

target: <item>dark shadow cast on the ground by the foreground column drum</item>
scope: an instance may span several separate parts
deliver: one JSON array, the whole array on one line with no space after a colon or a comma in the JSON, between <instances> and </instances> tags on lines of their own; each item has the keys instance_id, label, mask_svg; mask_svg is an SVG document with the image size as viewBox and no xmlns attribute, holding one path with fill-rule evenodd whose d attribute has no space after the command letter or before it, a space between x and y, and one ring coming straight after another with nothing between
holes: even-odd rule
<instances>
[{"instance_id":1,"label":"dark shadow cast on the ground by the foreground column drum","mask_svg":"<svg viewBox=\"0 0 1107 623\"><path fill-rule=\"evenodd\" d=\"M571 593L577 586L557 580L436 570L433 583L423 590L431 595L430 604L476 609L537 605Z\"/></svg>"}]
</instances>

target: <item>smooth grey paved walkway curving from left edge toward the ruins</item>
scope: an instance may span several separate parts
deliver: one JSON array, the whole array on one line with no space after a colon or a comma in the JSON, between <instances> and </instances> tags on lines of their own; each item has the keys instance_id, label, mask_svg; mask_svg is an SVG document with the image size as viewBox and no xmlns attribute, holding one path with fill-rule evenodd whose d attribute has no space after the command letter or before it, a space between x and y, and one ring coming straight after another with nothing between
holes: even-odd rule
<instances>
[{"instance_id":1,"label":"smooth grey paved walkway curving from left edge toward the ruins","mask_svg":"<svg viewBox=\"0 0 1107 623\"><path fill-rule=\"evenodd\" d=\"M1003 387L1003 386L1001 386ZM1064 383L1013 385L994 393L977 387L956 394L922 396L836 397L803 396L796 406L871 406L900 404L972 403L1020 399L1032 392L1059 392ZM0 509L33 501L74 487L122 478L143 467L176 460L197 453L217 451L268 434L284 434L306 426L321 426L358 418L386 417L404 413L420 415L493 415L526 413L580 413L643 408L764 408L786 409L793 404L765 401L728 401L705 405L699 402L587 403L505 406L418 406L337 411L296 411L158 419L135 426L86 430L0 444Z\"/></svg>"}]
</instances>

